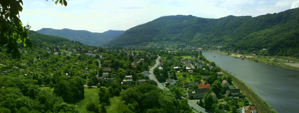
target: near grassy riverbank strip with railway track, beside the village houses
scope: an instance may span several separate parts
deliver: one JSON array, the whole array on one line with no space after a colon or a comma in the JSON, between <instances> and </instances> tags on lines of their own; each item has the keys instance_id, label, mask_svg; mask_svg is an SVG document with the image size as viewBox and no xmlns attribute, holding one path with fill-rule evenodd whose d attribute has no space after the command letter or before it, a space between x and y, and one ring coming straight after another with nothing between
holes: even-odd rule
<instances>
[{"instance_id":1,"label":"near grassy riverbank strip with railway track, beside the village houses","mask_svg":"<svg viewBox=\"0 0 299 113\"><path fill-rule=\"evenodd\" d=\"M266 103L259 95L257 95L253 90L251 90L246 84L240 81L237 77L226 72L226 70L223 70L222 68L220 68L220 70L225 76L230 76L232 78L233 84L236 85L236 87L239 88L244 95L246 95L248 101L250 101L255 106L257 106L258 109L260 109L262 112L277 113L268 103Z\"/></svg>"}]
</instances>

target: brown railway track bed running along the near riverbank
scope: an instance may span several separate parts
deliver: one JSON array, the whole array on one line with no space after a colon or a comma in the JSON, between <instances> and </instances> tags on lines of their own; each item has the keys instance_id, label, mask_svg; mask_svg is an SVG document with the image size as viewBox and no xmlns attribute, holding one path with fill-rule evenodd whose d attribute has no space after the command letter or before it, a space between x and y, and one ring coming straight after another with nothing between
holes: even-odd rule
<instances>
[{"instance_id":1,"label":"brown railway track bed running along the near riverbank","mask_svg":"<svg viewBox=\"0 0 299 113\"><path fill-rule=\"evenodd\" d=\"M227 73L226 71L224 70L221 70L222 73L224 73L226 76L230 76L229 73ZM246 88L242 82L240 82L238 79L236 79L234 76L231 77L231 79L236 83L238 84L240 87L240 89L243 89L245 90L245 92L251 96L255 101L254 103L257 103L258 105L255 105L257 106L258 108L260 108L261 111L263 112L267 112L267 113L271 113L271 110L269 108L267 108L266 106L263 105L263 102L260 100L260 98L258 98L256 95L254 95L250 90L248 90L248 88Z\"/></svg>"}]
</instances>

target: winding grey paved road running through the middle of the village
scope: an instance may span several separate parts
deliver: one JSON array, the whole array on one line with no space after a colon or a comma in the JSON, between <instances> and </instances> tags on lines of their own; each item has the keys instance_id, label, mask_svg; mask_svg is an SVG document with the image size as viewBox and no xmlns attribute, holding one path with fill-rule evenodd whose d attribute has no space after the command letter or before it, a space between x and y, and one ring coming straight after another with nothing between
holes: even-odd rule
<instances>
[{"instance_id":1,"label":"winding grey paved road running through the middle of the village","mask_svg":"<svg viewBox=\"0 0 299 113\"><path fill-rule=\"evenodd\" d=\"M160 56L158 56L158 58L156 59L156 64L154 65L154 67L150 68L149 70L149 79L154 80L155 82L157 82L158 87L161 89L165 89L165 90L169 90L167 87L165 87L163 84L161 84L155 77L153 70L158 66L158 64L160 64L159 62ZM183 97L184 98L184 97ZM192 100L188 99L188 104L190 107L193 107L193 111L194 112L204 112L205 113L205 109L198 106L196 104L196 102L194 103ZM194 110L195 109L195 110Z\"/></svg>"}]
</instances>

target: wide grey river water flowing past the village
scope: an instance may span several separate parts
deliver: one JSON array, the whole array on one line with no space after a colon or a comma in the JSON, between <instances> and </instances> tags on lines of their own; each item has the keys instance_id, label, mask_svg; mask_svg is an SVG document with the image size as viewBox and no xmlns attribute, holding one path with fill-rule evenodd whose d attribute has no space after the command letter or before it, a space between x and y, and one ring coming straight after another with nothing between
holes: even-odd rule
<instances>
[{"instance_id":1,"label":"wide grey river water flowing past the village","mask_svg":"<svg viewBox=\"0 0 299 113\"><path fill-rule=\"evenodd\" d=\"M299 71L217 52L203 51L202 55L242 80L278 113L299 112Z\"/></svg>"}]
</instances>

